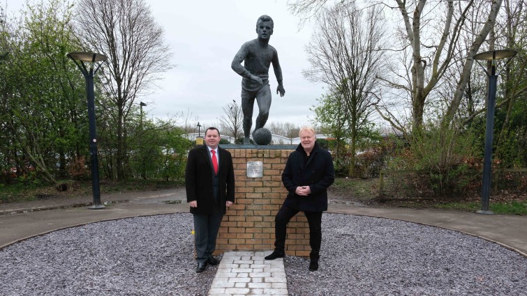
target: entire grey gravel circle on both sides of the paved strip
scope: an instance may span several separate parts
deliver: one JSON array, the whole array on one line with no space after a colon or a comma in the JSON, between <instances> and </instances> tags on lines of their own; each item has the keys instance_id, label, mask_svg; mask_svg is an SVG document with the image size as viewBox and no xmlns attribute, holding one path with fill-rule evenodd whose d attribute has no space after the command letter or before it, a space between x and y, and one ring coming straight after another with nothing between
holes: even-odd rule
<instances>
[{"instance_id":1,"label":"entire grey gravel circle on both sides of the paved strip","mask_svg":"<svg viewBox=\"0 0 527 296\"><path fill-rule=\"evenodd\" d=\"M405 221L322 215L318 272L286 256L290 295L526 295L527 258ZM103 221L0 250L1 295L206 295L190 214Z\"/></svg>"}]
</instances>

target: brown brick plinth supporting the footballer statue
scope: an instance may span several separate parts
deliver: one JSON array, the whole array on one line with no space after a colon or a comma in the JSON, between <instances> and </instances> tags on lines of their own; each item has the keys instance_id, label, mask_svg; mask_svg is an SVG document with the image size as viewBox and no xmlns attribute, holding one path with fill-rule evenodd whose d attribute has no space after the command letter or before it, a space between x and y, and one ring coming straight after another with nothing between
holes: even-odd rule
<instances>
[{"instance_id":1,"label":"brown brick plinth supporting the footballer statue","mask_svg":"<svg viewBox=\"0 0 527 296\"><path fill-rule=\"evenodd\" d=\"M223 216L216 254L274 249L274 217L288 192L282 171L293 150L228 148L236 180L236 203ZM247 178L247 162L263 162L262 178ZM303 212L288 224L285 254L309 256L309 225Z\"/></svg>"}]
</instances>

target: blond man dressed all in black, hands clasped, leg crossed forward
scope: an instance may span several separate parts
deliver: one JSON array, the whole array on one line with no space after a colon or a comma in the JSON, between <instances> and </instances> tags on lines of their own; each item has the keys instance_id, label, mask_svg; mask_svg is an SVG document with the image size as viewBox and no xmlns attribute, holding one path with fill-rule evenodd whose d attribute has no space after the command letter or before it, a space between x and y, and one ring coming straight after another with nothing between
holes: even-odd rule
<instances>
[{"instance_id":1,"label":"blond man dressed all in black, hands clasped, leg crossed forward","mask_svg":"<svg viewBox=\"0 0 527 296\"><path fill-rule=\"evenodd\" d=\"M309 223L309 270L313 272L318 270L322 212L327 210L327 188L335 180L335 170L331 154L318 147L316 132L312 127L302 127L299 137L300 144L289 155L282 173L282 182L289 194L276 214L274 251L265 260L285 256L285 235L289 220L302 211Z\"/></svg>"}]
</instances>

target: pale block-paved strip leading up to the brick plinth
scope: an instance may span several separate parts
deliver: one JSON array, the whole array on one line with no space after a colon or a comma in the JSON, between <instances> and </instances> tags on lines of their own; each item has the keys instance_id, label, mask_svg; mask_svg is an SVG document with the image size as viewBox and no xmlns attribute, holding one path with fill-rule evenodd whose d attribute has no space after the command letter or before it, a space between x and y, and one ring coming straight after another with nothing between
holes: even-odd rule
<instances>
[{"instance_id":1,"label":"pale block-paved strip leading up to the brick plinth","mask_svg":"<svg viewBox=\"0 0 527 296\"><path fill-rule=\"evenodd\" d=\"M271 253L226 251L208 295L288 295L283 258L264 260Z\"/></svg>"}]
</instances>

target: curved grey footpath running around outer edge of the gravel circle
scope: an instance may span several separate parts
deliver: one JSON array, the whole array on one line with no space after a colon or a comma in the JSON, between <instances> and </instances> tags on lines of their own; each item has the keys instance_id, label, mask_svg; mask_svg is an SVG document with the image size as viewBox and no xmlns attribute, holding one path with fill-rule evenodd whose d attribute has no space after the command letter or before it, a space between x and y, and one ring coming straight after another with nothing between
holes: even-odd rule
<instances>
[{"instance_id":1,"label":"curved grey footpath running around outer edge of the gravel circle","mask_svg":"<svg viewBox=\"0 0 527 296\"><path fill-rule=\"evenodd\" d=\"M0 249L20 240L82 224L127 217L188 212L183 188L102 196L105 209L91 210L89 197L48 198L0 204ZM527 257L527 217L452 210L369 208L329 204L328 212L411 221L496 242Z\"/></svg>"}]
</instances>

